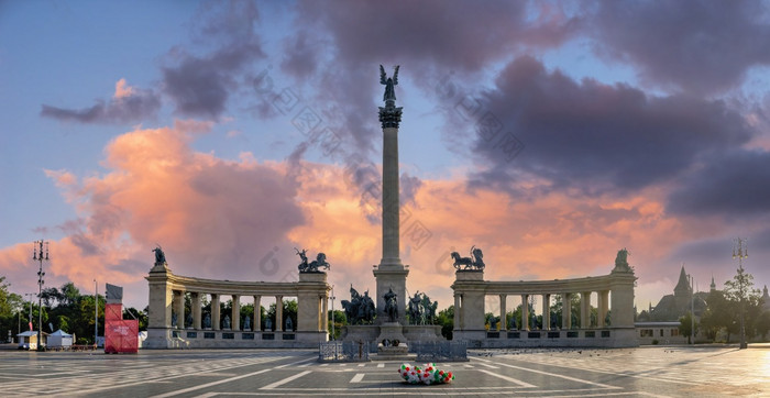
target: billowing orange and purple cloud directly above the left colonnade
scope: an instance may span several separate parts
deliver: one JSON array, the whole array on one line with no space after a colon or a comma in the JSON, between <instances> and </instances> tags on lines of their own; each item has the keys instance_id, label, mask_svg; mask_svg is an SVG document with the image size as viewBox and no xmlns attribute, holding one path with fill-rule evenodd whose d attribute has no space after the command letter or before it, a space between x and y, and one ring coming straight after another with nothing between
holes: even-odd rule
<instances>
[{"instance_id":1,"label":"billowing orange and purple cloud directly above the left colonnade","mask_svg":"<svg viewBox=\"0 0 770 398\"><path fill-rule=\"evenodd\" d=\"M52 242L52 286L90 286L98 276L146 291L143 276L155 244L180 275L279 277L260 259L276 245L290 246L286 234L305 223L296 183L284 166L260 164L249 154L232 162L191 151L193 139L208 126L178 122L120 135L106 148L103 175L78 180L65 170L47 172L80 217L62 225L66 236ZM3 251L3 274L19 266L16 257Z\"/></svg>"}]
</instances>

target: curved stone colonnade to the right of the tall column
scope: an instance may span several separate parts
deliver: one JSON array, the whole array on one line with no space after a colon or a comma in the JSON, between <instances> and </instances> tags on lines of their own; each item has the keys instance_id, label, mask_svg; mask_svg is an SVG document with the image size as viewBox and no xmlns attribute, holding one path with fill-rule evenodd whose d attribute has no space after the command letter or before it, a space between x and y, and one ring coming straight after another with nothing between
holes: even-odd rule
<instances>
[{"instance_id":1,"label":"curved stone colonnade to the right of the tall column","mask_svg":"<svg viewBox=\"0 0 770 398\"><path fill-rule=\"evenodd\" d=\"M454 290L453 340L466 341L469 346L637 346L634 329L634 285L636 276L628 267L615 267L609 275L575 279L532 281L488 281L483 270L458 270ZM571 306L562 305L561 324L550 319L551 296L560 295L561 302L580 297L580 319L573 324ZM597 317L591 322L591 297L596 295ZM499 299L499 329L487 330L485 301L487 296ZM529 306L521 306L516 328L509 329L506 301L509 296L521 297L527 303L532 296L540 297L546 321L539 329L529 324ZM612 311L610 311L612 310ZM606 322L605 319L609 320ZM546 323L548 322L548 324Z\"/></svg>"}]
</instances>

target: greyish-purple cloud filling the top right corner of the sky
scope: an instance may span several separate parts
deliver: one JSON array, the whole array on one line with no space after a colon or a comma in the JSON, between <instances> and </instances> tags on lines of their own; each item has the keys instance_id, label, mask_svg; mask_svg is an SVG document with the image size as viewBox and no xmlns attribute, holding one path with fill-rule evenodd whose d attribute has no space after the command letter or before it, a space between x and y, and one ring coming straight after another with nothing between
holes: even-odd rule
<instances>
[{"instance_id":1,"label":"greyish-purple cloud filling the top right corner of the sky","mask_svg":"<svg viewBox=\"0 0 770 398\"><path fill-rule=\"evenodd\" d=\"M770 64L763 1L601 1L587 24L600 54L663 87L714 93Z\"/></svg>"}]
</instances>

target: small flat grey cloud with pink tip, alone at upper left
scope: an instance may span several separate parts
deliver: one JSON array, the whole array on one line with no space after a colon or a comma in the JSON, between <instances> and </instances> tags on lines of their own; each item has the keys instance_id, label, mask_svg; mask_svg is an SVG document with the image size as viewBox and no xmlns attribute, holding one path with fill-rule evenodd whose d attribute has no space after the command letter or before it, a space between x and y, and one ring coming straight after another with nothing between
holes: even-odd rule
<instances>
[{"instance_id":1,"label":"small flat grey cloud with pink tip, alone at upper left","mask_svg":"<svg viewBox=\"0 0 770 398\"><path fill-rule=\"evenodd\" d=\"M108 101L97 100L94 107L80 110L43 104L40 114L79 123L133 123L155 118L160 108L161 99L153 90L130 87L125 79L120 79L114 96Z\"/></svg>"}]
</instances>

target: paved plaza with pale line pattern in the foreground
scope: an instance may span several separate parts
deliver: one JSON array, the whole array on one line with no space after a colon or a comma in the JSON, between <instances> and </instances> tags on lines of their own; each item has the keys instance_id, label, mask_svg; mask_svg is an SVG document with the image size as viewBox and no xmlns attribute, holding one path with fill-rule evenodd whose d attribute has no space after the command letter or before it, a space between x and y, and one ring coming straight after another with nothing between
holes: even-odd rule
<instances>
[{"instance_id":1,"label":"paved plaza with pale line pattern in the foreground","mask_svg":"<svg viewBox=\"0 0 770 398\"><path fill-rule=\"evenodd\" d=\"M438 364L454 383L411 386L397 362L317 362L307 351L0 351L8 397L770 396L770 350L640 347L471 351Z\"/></svg>"}]
</instances>

